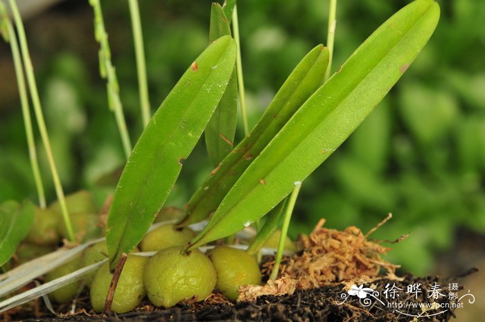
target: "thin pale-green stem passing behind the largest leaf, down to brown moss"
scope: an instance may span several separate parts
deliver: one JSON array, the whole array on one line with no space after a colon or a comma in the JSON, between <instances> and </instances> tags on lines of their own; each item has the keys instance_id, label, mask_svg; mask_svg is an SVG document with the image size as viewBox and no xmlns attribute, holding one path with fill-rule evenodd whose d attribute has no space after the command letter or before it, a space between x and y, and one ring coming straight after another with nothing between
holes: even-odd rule
<instances>
[{"instance_id":1,"label":"thin pale-green stem passing behind the largest leaf, down to brown moss","mask_svg":"<svg viewBox=\"0 0 485 322\"><path fill-rule=\"evenodd\" d=\"M332 68L333 60L333 42L335 40L335 24L337 20L335 19L337 14L337 0L330 0L330 9L328 10L328 31L327 31L327 48L329 52L328 66L324 75L324 82L330 78L330 69ZM274 261L274 267L271 272L271 279L275 279L278 276L279 265L281 262L281 257L283 256L283 247L285 245L286 235L288 234L288 226L290 224L291 212L293 211L294 203L297 201L298 194L301 188L301 184L297 185L291 194L290 200L288 201L288 208L286 209L285 218L283 220L283 226L281 227L281 235L278 244L278 253L276 253L276 259ZM290 214L288 215L288 211Z\"/></svg>"}]
</instances>

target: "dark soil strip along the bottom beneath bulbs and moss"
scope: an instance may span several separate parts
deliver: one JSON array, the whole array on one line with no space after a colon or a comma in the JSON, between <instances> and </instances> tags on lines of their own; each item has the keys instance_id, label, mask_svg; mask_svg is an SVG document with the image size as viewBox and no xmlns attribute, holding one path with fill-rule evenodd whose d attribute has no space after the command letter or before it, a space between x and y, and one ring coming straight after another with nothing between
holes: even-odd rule
<instances>
[{"instance_id":1,"label":"dark soil strip along the bottom beneath bulbs and moss","mask_svg":"<svg viewBox=\"0 0 485 322\"><path fill-rule=\"evenodd\" d=\"M386 300L384 291L389 284L389 289L396 283L396 287L403 289L395 300L390 296ZM406 293L407 285L421 283L422 294L416 299L415 294ZM441 285L441 292L446 296L433 299L428 297L431 285ZM406 276L405 280L398 282L396 280L379 280L374 283L365 283L364 287L372 287L379 294L376 297L383 302L399 301L401 303L453 303L448 299L448 283L456 283L452 280L442 280L436 277L415 278ZM359 285L358 285L359 286ZM75 315L64 317L44 316L37 319L21 319L20 316L12 316L12 321L23 322L108 322L108 321L125 321L125 322L148 322L148 321L412 321L413 316L419 315L419 322L422 321L449 321L455 314L453 309L429 310L423 313L420 307L403 307L394 309L382 305L375 298L371 298L371 304L368 307L362 305L358 296L349 296L343 304L342 295L348 295L344 291L344 285L327 285L319 289L297 290L294 294L288 296L261 296L253 303L236 303L235 305L227 304L200 304L195 305L179 304L168 310L160 310L150 305L140 307L135 312L127 314L112 314L110 316L96 315L89 312L88 309L82 310L82 307L89 307L88 303L77 304ZM388 293L390 294L390 293ZM87 298L85 299L85 302ZM145 303L148 304L148 303ZM42 307L41 307L42 310ZM65 307L64 307L65 310ZM398 310L399 312L394 312ZM443 312L435 316L437 312ZM67 311L67 310L66 310ZM400 313L401 312L401 313Z\"/></svg>"}]
</instances>

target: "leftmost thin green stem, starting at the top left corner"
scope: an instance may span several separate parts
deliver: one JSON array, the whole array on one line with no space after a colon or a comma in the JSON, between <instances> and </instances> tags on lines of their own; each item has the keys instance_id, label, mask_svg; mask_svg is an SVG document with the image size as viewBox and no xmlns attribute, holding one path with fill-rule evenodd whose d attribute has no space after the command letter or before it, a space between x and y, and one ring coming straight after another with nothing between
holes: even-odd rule
<instances>
[{"instance_id":1,"label":"leftmost thin green stem, starting at the top left corner","mask_svg":"<svg viewBox=\"0 0 485 322\"><path fill-rule=\"evenodd\" d=\"M37 195L39 197L39 207L46 208L46 197L44 193L44 185L42 184L42 177L39 170L39 162L37 160L37 151L35 150L35 138L32 129L32 119L30 118L30 109L28 106L27 89L24 78L24 68L19 53L19 45L17 43L17 36L12 26L12 21L8 17L7 10L3 2L0 2L1 17L5 21L6 28L6 42L10 42L12 50L13 63L15 66L15 75L17 76L17 86L19 87L19 96L22 109L22 116L24 117L24 126L27 137L28 156L30 159L30 168L34 176L35 186L37 188Z\"/></svg>"}]
</instances>

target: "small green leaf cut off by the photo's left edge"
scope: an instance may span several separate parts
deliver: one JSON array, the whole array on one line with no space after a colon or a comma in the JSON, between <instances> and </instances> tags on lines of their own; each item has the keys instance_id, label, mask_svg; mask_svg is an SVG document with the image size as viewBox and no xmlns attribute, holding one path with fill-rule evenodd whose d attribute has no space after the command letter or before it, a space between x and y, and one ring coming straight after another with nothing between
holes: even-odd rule
<instances>
[{"instance_id":1,"label":"small green leaf cut off by the photo's left edge","mask_svg":"<svg viewBox=\"0 0 485 322\"><path fill-rule=\"evenodd\" d=\"M0 266L15 253L34 222L35 206L6 201L0 204Z\"/></svg>"}]
</instances>

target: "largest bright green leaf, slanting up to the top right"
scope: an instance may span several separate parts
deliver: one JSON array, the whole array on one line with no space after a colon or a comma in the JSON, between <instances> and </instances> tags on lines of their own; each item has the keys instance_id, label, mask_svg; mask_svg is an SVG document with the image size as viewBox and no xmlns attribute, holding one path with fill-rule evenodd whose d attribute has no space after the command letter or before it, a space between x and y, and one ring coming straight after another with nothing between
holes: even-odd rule
<instances>
[{"instance_id":1,"label":"largest bright green leaf, slanting up to the top right","mask_svg":"<svg viewBox=\"0 0 485 322\"><path fill-rule=\"evenodd\" d=\"M416 0L382 24L265 147L190 248L258 220L308 177L394 86L438 19L437 3Z\"/></svg>"}]
</instances>

